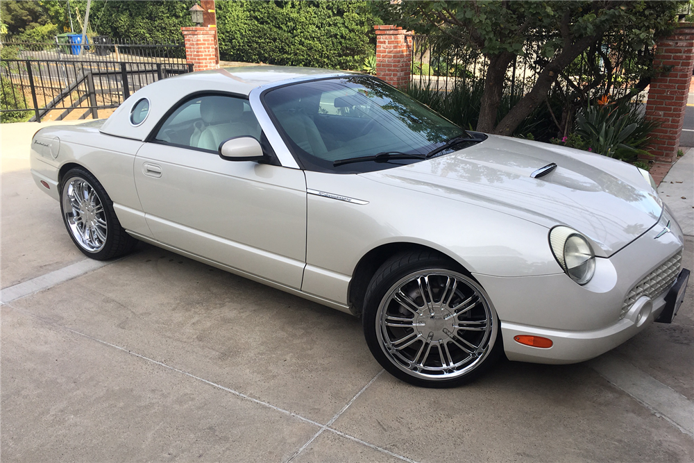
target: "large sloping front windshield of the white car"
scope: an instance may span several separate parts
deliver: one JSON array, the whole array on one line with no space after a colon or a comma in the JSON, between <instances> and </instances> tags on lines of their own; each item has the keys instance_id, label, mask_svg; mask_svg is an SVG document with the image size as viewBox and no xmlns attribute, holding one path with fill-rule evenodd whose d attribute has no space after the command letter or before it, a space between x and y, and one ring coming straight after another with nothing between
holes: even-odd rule
<instances>
[{"instance_id":1,"label":"large sloping front windshield of the white car","mask_svg":"<svg viewBox=\"0 0 694 463\"><path fill-rule=\"evenodd\" d=\"M377 153L426 155L448 140L468 137L403 92L366 76L287 85L270 90L263 101L289 149L310 170L363 172L421 162L403 155L387 162L336 161Z\"/></svg>"}]
</instances>

